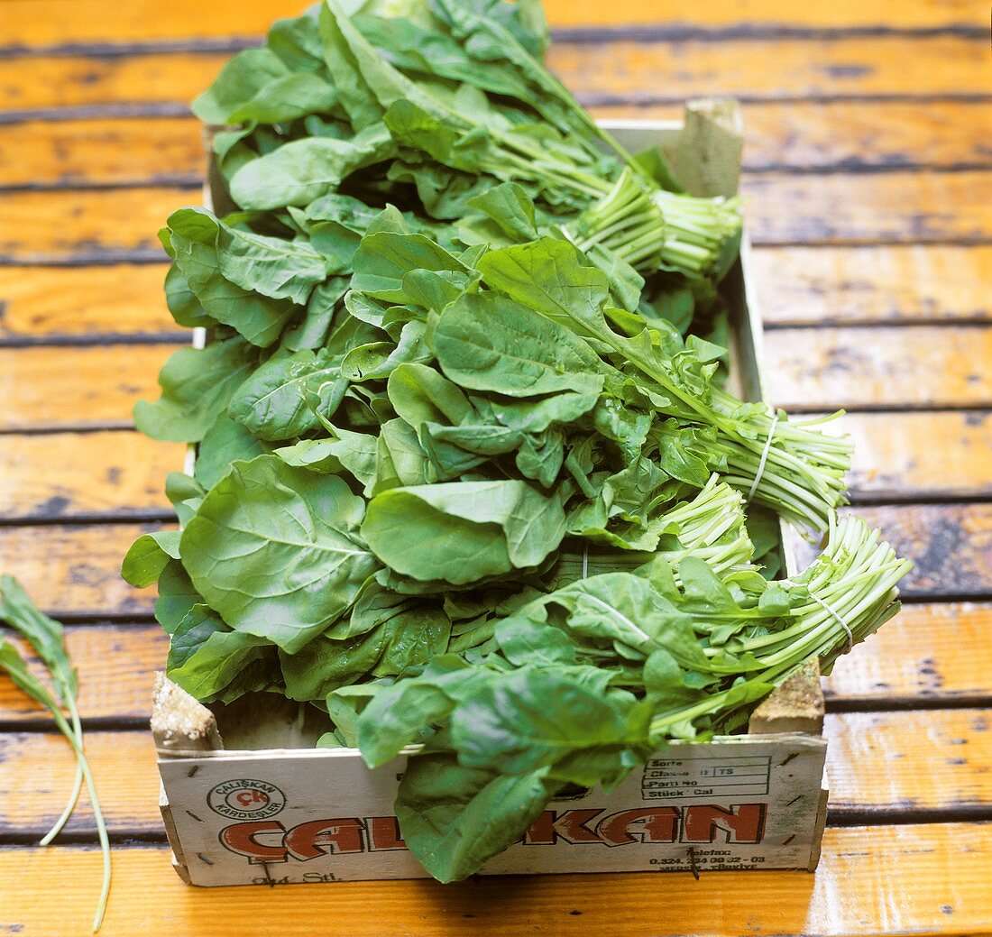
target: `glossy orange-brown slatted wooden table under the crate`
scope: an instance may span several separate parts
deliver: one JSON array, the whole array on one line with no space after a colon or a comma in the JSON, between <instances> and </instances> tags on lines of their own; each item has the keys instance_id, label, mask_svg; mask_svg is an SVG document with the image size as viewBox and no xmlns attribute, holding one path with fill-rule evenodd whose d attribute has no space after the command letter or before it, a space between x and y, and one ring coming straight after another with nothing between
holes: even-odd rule
<instances>
[{"instance_id":1,"label":"glossy orange-brown slatted wooden table under the crate","mask_svg":"<svg viewBox=\"0 0 992 937\"><path fill-rule=\"evenodd\" d=\"M70 625L115 842L103 933L992 932L992 130L977 0L549 0L551 63L597 116L736 95L775 402L846 407L851 509L916 571L827 681L831 801L804 873L198 890L169 865L146 732L166 641L118 578L173 521L177 446L132 431L186 336L156 231L195 202L186 102L288 0L0 0L0 568ZM0 934L87 932L72 761L0 681Z\"/></svg>"}]
</instances>

